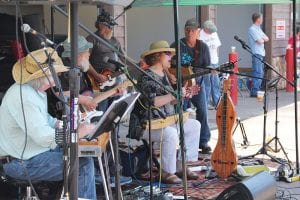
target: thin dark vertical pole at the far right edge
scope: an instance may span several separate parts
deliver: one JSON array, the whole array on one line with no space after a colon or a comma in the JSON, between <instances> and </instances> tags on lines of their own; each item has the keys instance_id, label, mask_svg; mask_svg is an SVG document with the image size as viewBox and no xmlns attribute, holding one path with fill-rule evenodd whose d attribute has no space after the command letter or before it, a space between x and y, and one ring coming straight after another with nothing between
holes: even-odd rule
<instances>
[{"instance_id":1,"label":"thin dark vertical pole at the far right edge","mask_svg":"<svg viewBox=\"0 0 300 200\"><path fill-rule=\"evenodd\" d=\"M295 145L296 145L296 169L299 174L299 147L298 147L298 105L297 105L297 57L296 57L296 0L293 0L293 54L294 54L294 103L295 103Z\"/></svg>"}]
</instances>

